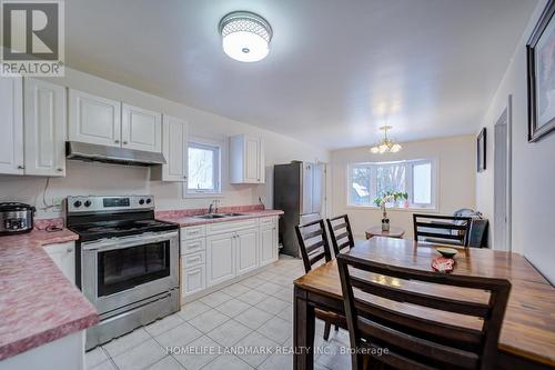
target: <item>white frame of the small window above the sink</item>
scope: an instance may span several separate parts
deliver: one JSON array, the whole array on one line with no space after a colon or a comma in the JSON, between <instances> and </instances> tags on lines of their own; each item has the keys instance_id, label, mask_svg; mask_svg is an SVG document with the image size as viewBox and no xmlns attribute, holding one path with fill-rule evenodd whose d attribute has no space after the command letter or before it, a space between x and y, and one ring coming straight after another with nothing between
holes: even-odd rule
<instances>
[{"instance_id":1,"label":"white frame of the small window above the sink","mask_svg":"<svg viewBox=\"0 0 555 370\"><path fill-rule=\"evenodd\" d=\"M214 166L213 166L213 176L215 179L214 189L189 189L189 179L190 179L190 167L189 167L189 149L199 148L204 150L214 151ZM183 182L183 198L214 198L214 197L223 197L222 194L222 151L223 143L215 140L190 137L186 142L186 178L188 181Z\"/></svg>"}]
</instances>

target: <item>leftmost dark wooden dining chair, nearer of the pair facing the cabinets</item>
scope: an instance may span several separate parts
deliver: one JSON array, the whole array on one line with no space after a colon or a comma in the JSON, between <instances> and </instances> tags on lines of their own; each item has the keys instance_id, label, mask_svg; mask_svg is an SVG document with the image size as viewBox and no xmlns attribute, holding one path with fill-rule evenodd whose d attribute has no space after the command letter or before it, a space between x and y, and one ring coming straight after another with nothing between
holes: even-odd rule
<instances>
[{"instance_id":1,"label":"leftmost dark wooden dining chair, nearer of the pair facing the cabinets","mask_svg":"<svg viewBox=\"0 0 555 370\"><path fill-rule=\"evenodd\" d=\"M314 264L332 260L324 220L321 219L303 226L296 226L295 231L306 273L312 270ZM316 318L325 322L324 340L330 338L332 324L335 326L335 330L339 330L340 327L346 328L346 320L343 316L321 309L314 309L314 313Z\"/></svg>"}]
</instances>

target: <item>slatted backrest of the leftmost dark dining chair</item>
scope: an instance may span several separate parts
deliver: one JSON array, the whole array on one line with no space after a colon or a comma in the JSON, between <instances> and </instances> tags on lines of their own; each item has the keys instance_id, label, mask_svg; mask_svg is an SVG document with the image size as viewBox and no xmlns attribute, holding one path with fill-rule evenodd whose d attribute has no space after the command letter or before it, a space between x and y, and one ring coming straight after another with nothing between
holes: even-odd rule
<instances>
[{"instance_id":1,"label":"slatted backrest of the leftmost dark dining chair","mask_svg":"<svg viewBox=\"0 0 555 370\"><path fill-rule=\"evenodd\" d=\"M324 220L320 219L310 223L295 227L304 270L309 272L312 266L322 259L332 260L332 252L327 242Z\"/></svg>"}]
</instances>

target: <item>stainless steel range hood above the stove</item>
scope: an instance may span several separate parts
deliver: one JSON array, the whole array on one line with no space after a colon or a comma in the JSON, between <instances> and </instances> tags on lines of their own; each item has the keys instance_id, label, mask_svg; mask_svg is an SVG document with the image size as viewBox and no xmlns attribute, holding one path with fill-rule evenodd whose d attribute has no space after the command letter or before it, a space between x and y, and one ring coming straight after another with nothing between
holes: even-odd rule
<instances>
[{"instance_id":1,"label":"stainless steel range hood above the stove","mask_svg":"<svg viewBox=\"0 0 555 370\"><path fill-rule=\"evenodd\" d=\"M88 162L95 161L128 166L165 164L165 159L162 153L128 148L98 146L79 141L65 142L65 156L68 159Z\"/></svg>"}]
</instances>

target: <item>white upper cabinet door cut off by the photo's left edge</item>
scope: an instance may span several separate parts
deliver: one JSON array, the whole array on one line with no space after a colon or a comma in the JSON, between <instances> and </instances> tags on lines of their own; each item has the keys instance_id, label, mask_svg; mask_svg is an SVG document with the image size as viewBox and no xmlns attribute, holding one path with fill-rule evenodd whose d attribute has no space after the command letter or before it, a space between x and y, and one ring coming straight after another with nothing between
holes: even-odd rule
<instances>
[{"instance_id":1,"label":"white upper cabinet door cut off by the photo's left edge","mask_svg":"<svg viewBox=\"0 0 555 370\"><path fill-rule=\"evenodd\" d=\"M0 77L0 173L23 174L23 82Z\"/></svg>"}]
</instances>

